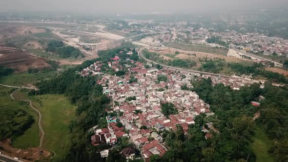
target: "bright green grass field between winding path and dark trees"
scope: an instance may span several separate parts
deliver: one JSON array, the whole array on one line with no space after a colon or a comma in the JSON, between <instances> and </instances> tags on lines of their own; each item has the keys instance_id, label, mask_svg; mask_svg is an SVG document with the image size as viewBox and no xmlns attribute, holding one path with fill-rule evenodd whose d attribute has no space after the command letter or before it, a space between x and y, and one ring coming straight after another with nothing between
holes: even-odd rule
<instances>
[{"instance_id":1,"label":"bright green grass field between winding path and dark trees","mask_svg":"<svg viewBox=\"0 0 288 162\"><path fill-rule=\"evenodd\" d=\"M76 106L72 105L64 95L28 96L27 92L27 90L17 91L15 96L28 98L33 102L33 106L39 109L42 114L42 126L45 132L42 147L53 150L56 153L53 159L55 161L60 160L68 151L70 145L70 135L67 131L70 121L75 118ZM29 130L27 130L24 137L25 135L29 137L29 133ZM23 140L24 137L17 140ZM22 142L22 145L24 144L25 142Z\"/></svg>"}]
</instances>

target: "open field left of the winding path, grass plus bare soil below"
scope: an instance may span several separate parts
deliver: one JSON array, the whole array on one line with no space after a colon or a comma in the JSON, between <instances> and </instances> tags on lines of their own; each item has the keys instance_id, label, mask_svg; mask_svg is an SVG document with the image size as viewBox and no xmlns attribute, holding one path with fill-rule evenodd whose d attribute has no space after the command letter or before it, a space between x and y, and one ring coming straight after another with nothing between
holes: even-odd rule
<instances>
[{"instance_id":1,"label":"open field left of the winding path, grass plus bare soil below","mask_svg":"<svg viewBox=\"0 0 288 162\"><path fill-rule=\"evenodd\" d=\"M27 115L32 116L34 123L31 127L23 132L21 136L14 136L11 133L9 139L0 142L0 146L5 149L5 152L9 155L14 155L27 160L39 160L40 159L40 148L39 146L39 128L37 125L38 116L35 111L24 101L15 101L10 98L10 93L13 91L12 88L0 86L0 123L6 122L6 129L10 128L8 123L16 121L21 123L25 116L15 115L13 118L6 119L7 114L12 112L24 111ZM1 125L1 127L4 125ZM13 125L15 127L15 125ZM11 146L12 145L12 146ZM20 149L21 148L21 149ZM21 151L19 151L21 150ZM19 152L18 152L19 151ZM43 156L50 156L50 152L43 150Z\"/></svg>"}]
</instances>

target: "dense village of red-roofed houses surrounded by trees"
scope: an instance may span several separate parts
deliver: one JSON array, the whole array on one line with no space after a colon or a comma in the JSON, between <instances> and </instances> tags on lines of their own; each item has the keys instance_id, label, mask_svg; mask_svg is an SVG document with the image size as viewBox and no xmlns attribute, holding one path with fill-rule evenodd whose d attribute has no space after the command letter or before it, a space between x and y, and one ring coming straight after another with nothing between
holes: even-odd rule
<instances>
[{"instance_id":1,"label":"dense village of red-roofed houses surrounded by trees","mask_svg":"<svg viewBox=\"0 0 288 162\"><path fill-rule=\"evenodd\" d=\"M123 51L120 51L123 54ZM126 53L127 56L132 52ZM121 62L122 60L122 63ZM124 66L123 64L124 61ZM101 72L108 68L120 72L126 70L126 75L116 76ZM129 73L129 75L127 75ZM200 114L214 115L209 104L199 98L196 92L186 90L185 87L193 87L191 81L201 78L210 78L212 84L223 83L234 90L241 86L249 85L250 81L241 78L225 78L199 73L181 73L168 69L157 69L151 63L133 61L119 58L117 55L110 58L108 66L101 61L84 68L79 74L83 77L100 75L101 80L97 84L102 85L103 94L112 99L112 107L109 113L117 115L106 116L107 128L94 127L91 143L98 145L107 143L117 146L119 138L126 137L134 143L135 147L128 147L122 151L127 160L136 158L136 151L141 151L145 161L149 161L152 155L163 156L168 150L162 137L163 131L176 131L177 126L183 128L187 134L189 124L193 124L194 118ZM258 103L258 102L257 102ZM257 103L252 103L255 106ZM172 107L173 112L164 112L163 106ZM206 123L202 128L203 136L210 138L213 132L218 132L213 127L213 122ZM102 157L108 156L108 150L101 151ZM137 157L141 158L141 157Z\"/></svg>"}]
</instances>

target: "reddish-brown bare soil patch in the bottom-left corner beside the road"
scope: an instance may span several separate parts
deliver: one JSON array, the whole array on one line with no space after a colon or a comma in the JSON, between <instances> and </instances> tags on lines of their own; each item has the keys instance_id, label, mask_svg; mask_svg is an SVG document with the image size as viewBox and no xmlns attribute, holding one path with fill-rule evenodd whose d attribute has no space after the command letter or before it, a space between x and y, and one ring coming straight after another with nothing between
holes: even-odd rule
<instances>
[{"instance_id":1,"label":"reddish-brown bare soil patch in the bottom-left corner beside the road","mask_svg":"<svg viewBox=\"0 0 288 162\"><path fill-rule=\"evenodd\" d=\"M11 157L19 157L28 161L38 161L47 159L51 156L51 153L45 149L39 147L32 147L27 149L14 148L10 146L10 140L6 139L0 142L0 146L4 148L5 154Z\"/></svg>"}]
</instances>

